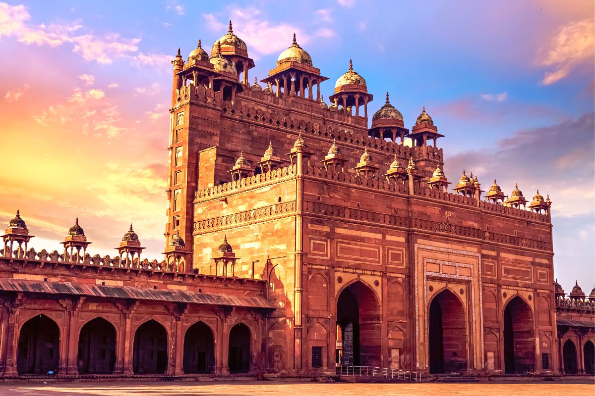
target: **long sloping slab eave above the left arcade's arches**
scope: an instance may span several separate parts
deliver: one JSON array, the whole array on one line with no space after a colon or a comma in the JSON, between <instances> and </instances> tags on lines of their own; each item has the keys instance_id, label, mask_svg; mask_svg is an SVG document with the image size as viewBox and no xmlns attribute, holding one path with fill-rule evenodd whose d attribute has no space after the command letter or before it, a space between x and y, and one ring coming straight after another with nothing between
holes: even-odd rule
<instances>
[{"instance_id":1,"label":"long sloping slab eave above the left arcade's arches","mask_svg":"<svg viewBox=\"0 0 595 396\"><path fill-rule=\"evenodd\" d=\"M267 299L260 296L238 296L236 294L211 292L200 293L190 292L189 290L148 289L134 286L101 286L87 283L39 282L0 278L0 290L7 292L73 294L77 296L274 309L274 306Z\"/></svg>"}]
</instances>

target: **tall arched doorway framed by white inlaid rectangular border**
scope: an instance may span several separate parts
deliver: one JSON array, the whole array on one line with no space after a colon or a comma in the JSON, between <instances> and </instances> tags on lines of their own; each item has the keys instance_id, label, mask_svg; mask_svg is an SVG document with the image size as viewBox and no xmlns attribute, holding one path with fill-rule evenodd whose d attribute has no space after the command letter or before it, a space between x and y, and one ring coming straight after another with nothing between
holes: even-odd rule
<instances>
[{"instance_id":1,"label":"tall arched doorway framed by white inlaid rectangular border","mask_svg":"<svg viewBox=\"0 0 595 396\"><path fill-rule=\"evenodd\" d=\"M432 299L429 313L430 373L466 372L466 315L461 300L450 290L443 290Z\"/></svg>"}]
</instances>

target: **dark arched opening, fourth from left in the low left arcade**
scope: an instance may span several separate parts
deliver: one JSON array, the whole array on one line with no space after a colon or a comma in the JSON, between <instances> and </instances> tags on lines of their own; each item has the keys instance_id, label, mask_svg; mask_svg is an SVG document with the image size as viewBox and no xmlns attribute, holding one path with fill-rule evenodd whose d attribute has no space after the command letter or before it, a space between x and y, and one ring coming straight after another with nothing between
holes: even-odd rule
<instances>
[{"instance_id":1,"label":"dark arched opening, fourth from left in the low left arcade","mask_svg":"<svg viewBox=\"0 0 595 396\"><path fill-rule=\"evenodd\" d=\"M184 336L184 373L212 373L214 363L213 332L205 323L197 322Z\"/></svg>"}]
</instances>

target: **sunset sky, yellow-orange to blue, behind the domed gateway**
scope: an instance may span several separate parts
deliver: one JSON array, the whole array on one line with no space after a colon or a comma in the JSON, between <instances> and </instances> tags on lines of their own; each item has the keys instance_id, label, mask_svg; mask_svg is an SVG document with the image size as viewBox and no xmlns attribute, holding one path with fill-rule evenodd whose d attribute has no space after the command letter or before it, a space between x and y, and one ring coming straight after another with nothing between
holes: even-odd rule
<instances>
[{"instance_id":1,"label":"sunset sky, yellow-orange to blue, behind the domed gateway","mask_svg":"<svg viewBox=\"0 0 595 396\"><path fill-rule=\"evenodd\" d=\"M17 208L36 249L78 216L92 254L129 224L160 258L170 64L227 31L266 77L296 33L333 92L353 68L411 128L425 106L444 171L553 201L555 275L595 283L594 3L363 0L0 1L0 224Z\"/></svg>"}]
</instances>

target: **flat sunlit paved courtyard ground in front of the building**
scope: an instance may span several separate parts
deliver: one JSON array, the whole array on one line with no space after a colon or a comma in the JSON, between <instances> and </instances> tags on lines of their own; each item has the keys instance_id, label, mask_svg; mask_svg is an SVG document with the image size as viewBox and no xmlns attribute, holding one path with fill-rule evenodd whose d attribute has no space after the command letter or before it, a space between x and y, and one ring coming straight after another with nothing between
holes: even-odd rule
<instances>
[{"instance_id":1,"label":"flat sunlit paved courtyard ground in front of the building","mask_svg":"<svg viewBox=\"0 0 595 396\"><path fill-rule=\"evenodd\" d=\"M1 396L210 396L210 395L457 395L560 396L595 394L593 384L317 384L311 382L62 382L0 384Z\"/></svg>"}]
</instances>

